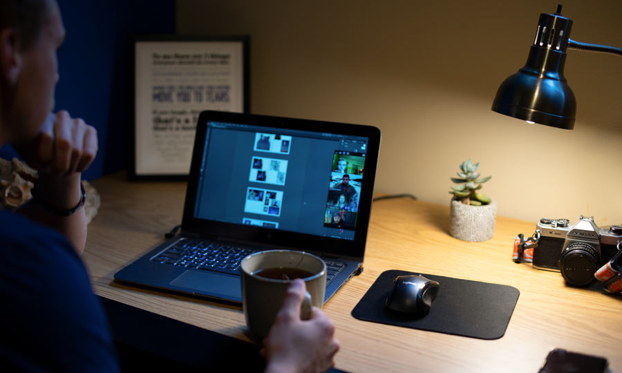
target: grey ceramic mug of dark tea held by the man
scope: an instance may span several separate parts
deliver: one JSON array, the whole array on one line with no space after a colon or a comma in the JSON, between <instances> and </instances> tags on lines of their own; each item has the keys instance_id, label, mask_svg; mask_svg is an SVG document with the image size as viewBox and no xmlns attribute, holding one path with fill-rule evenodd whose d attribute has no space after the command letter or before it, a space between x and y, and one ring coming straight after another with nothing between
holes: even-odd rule
<instances>
[{"instance_id":1,"label":"grey ceramic mug of dark tea held by the man","mask_svg":"<svg viewBox=\"0 0 622 373\"><path fill-rule=\"evenodd\" d=\"M279 313L288 287L302 278L307 296L301 318L309 318L311 305L321 308L326 292L326 263L304 251L259 251L244 258L242 269L242 308L250 332L263 340Z\"/></svg>"}]
</instances>

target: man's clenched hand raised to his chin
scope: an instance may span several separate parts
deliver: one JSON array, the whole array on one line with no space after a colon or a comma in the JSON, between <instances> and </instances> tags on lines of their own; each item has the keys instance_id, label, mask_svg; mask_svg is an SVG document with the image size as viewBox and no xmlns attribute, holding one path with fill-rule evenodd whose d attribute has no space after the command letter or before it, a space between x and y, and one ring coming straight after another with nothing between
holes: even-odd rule
<instances>
[{"instance_id":1,"label":"man's clenched hand raised to his chin","mask_svg":"<svg viewBox=\"0 0 622 373\"><path fill-rule=\"evenodd\" d=\"M84 120L59 111L50 114L35 139L15 149L39 172L55 176L82 173L97 154L97 131Z\"/></svg>"}]
</instances>

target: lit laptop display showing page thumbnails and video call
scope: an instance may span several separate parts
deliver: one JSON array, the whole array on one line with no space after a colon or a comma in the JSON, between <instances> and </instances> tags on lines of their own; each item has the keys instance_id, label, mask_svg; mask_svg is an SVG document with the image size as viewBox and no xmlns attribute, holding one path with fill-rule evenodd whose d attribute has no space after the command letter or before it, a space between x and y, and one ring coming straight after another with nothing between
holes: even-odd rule
<instances>
[{"instance_id":1,"label":"lit laptop display showing page thumbnails and video call","mask_svg":"<svg viewBox=\"0 0 622 373\"><path fill-rule=\"evenodd\" d=\"M196 218L354 239L366 137L207 126Z\"/></svg>"}]
</instances>

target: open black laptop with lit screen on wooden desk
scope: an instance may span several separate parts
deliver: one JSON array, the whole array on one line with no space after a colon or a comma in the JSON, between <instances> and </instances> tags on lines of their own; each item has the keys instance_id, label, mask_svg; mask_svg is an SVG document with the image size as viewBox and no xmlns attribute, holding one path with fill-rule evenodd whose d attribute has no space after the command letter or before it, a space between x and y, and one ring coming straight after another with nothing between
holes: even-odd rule
<instances>
[{"instance_id":1,"label":"open black laptop with lit screen on wooden desk","mask_svg":"<svg viewBox=\"0 0 622 373\"><path fill-rule=\"evenodd\" d=\"M200 113L180 234L115 280L241 303L242 258L292 249L326 261L326 302L363 269L379 146L373 126Z\"/></svg>"}]
</instances>

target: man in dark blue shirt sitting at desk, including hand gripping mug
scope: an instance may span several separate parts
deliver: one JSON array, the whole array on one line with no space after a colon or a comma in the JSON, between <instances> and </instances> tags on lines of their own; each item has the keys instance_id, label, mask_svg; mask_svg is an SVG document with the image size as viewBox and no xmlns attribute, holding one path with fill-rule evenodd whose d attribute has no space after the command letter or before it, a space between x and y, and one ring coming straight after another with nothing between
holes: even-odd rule
<instances>
[{"instance_id":1,"label":"man in dark blue shirt sitting at desk, including hand gripping mug","mask_svg":"<svg viewBox=\"0 0 622 373\"><path fill-rule=\"evenodd\" d=\"M65 30L55 0L0 0L0 147L12 144L39 176L33 198L0 211L0 365L7 371L116 372L102 305L80 259L86 245L81 174L97 131L50 114ZM267 372L319 372L339 342L320 309L301 321L296 280L264 342Z\"/></svg>"}]
</instances>

